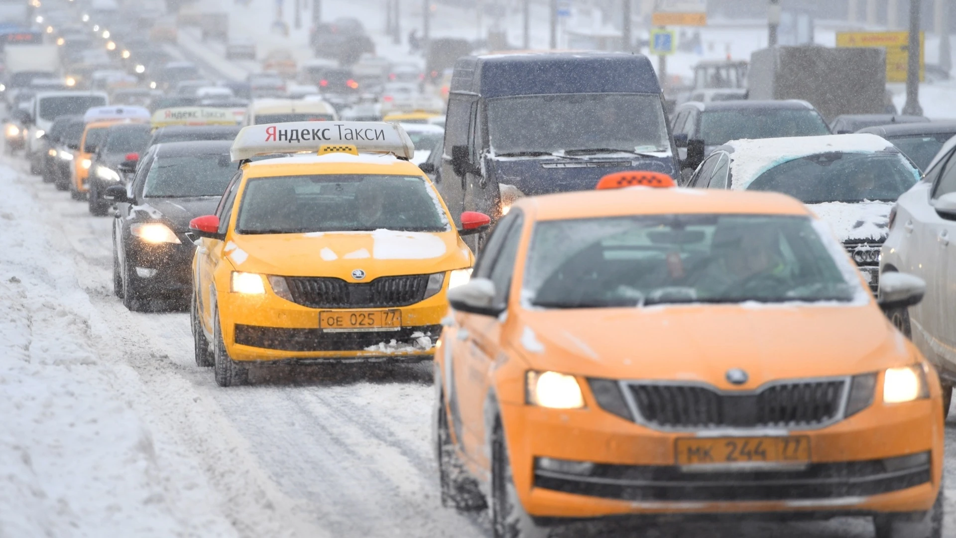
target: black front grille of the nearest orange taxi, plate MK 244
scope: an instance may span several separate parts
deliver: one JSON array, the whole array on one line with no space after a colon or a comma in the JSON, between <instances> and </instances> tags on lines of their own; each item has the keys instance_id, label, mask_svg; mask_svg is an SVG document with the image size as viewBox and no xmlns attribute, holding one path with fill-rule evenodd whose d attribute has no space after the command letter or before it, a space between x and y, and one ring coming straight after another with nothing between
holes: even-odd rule
<instances>
[{"instance_id":1,"label":"black front grille of the nearest orange taxi, plate MK 244","mask_svg":"<svg viewBox=\"0 0 956 538\"><path fill-rule=\"evenodd\" d=\"M657 428L817 427L842 413L846 380L773 384L733 394L696 385L628 386L639 420Z\"/></svg>"}]
</instances>

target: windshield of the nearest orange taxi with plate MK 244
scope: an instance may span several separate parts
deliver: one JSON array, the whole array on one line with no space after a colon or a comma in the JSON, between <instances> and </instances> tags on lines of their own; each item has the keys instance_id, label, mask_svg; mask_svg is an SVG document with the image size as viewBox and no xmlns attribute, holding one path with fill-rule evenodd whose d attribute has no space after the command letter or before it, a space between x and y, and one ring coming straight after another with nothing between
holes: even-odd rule
<instances>
[{"instance_id":1,"label":"windshield of the nearest orange taxi with plate MK 244","mask_svg":"<svg viewBox=\"0 0 956 538\"><path fill-rule=\"evenodd\" d=\"M544 221L534 228L523 295L554 308L851 301L861 285L847 280L825 240L804 216Z\"/></svg>"}]
</instances>

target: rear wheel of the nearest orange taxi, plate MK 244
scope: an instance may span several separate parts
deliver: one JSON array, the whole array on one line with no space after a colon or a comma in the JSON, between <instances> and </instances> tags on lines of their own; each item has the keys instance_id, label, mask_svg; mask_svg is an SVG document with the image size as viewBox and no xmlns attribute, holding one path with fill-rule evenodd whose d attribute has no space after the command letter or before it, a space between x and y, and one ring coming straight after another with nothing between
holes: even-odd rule
<instances>
[{"instance_id":1,"label":"rear wheel of the nearest orange taxi, plate MK 244","mask_svg":"<svg viewBox=\"0 0 956 538\"><path fill-rule=\"evenodd\" d=\"M448 430L448 415L445 413L445 396L439 394L435 432L435 456L438 460L438 481L442 492L442 505L463 512L484 510L488 507L478 482L468 475L465 466L455 454Z\"/></svg>"}]
</instances>

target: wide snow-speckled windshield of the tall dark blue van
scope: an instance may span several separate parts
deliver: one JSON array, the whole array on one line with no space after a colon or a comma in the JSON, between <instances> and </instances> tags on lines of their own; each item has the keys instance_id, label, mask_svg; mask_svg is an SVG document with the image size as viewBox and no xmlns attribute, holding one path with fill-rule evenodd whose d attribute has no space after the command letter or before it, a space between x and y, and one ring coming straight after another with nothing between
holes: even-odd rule
<instances>
[{"instance_id":1,"label":"wide snow-speckled windshield of the tall dark blue van","mask_svg":"<svg viewBox=\"0 0 956 538\"><path fill-rule=\"evenodd\" d=\"M670 147L657 94L558 94L490 99L496 155L588 150L665 151Z\"/></svg>"}]
</instances>

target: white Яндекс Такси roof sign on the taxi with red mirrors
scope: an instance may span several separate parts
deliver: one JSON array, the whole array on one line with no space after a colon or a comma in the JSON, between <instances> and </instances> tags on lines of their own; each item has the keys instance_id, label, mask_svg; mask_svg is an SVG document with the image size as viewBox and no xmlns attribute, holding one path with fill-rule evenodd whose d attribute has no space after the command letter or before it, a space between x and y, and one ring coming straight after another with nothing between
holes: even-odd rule
<instances>
[{"instance_id":1,"label":"white \u042f\u043d\u0434\u0435\u043a\u0441 \u0422\u0430\u043a\u0441\u0438 roof sign on the taxi with red mirrors","mask_svg":"<svg viewBox=\"0 0 956 538\"><path fill-rule=\"evenodd\" d=\"M248 125L229 149L233 161L274 153L318 153L324 146L354 146L363 153L393 153L410 159L415 145L398 123L290 122Z\"/></svg>"}]
</instances>

